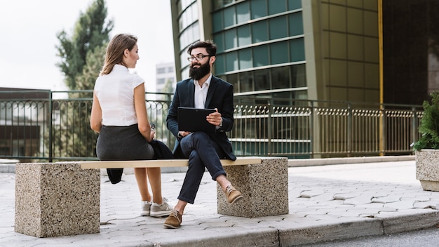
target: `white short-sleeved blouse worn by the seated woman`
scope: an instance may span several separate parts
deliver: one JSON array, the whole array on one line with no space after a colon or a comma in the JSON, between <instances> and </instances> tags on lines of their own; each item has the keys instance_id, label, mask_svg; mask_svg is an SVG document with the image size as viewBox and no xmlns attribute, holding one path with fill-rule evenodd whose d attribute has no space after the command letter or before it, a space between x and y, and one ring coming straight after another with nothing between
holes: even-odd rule
<instances>
[{"instance_id":1,"label":"white short-sleeved blouse worn by the seated woman","mask_svg":"<svg viewBox=\"0 0 439 247\"><path fill-rule=\"evenodd\" d=\"M127 67L114 65L112 72L97 77L95 95L102 109L105 126L130 126L137 123L134 107L134 88L144 83Z\"/></svg>"}]
</instances>

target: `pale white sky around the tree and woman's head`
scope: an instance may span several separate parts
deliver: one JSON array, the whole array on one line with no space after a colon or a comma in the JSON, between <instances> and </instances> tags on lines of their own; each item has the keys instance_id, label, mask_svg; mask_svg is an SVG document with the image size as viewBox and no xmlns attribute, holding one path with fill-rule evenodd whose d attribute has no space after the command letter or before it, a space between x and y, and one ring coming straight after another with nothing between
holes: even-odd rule
<instances>
[{"instance_id":1,"label":"pale white sky around the tree and woman's head","mask_svg":"<svg viewBox=\"0 0 439 247\"><path fill-rule=\"evenodd\" d=\"M70 37L80 13L93 0L0 1L0 87L64 91L55 46L62 30ZM135 72L155 92L156 64L174 62L169 0L106 0L114 34L137 36ZM93 89L93 88L90 88Z\"/></svg>"}]
</instances>

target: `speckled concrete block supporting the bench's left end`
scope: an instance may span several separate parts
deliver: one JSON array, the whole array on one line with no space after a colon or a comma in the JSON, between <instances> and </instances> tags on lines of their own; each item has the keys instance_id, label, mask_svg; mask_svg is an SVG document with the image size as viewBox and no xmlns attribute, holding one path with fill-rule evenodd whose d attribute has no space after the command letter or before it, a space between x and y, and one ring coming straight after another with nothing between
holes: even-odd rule
<instances>
[{"instance_id":1,"label":"speckled concrete block supporting the bench's left end","mask_svg":"<svg viewBox=\"0 0 439 247\"><path fill-rule=\"evenodd\" d=\"M100 170L80 163L17 163L15 232L93 234L100 227Z\"/></svg>"}]
</instances>

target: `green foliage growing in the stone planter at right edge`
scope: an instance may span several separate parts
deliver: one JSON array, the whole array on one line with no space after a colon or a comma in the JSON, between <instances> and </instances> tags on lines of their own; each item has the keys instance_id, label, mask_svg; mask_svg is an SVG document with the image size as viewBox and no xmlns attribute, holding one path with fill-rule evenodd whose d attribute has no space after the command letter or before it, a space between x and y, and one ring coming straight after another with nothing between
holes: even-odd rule
<instances>
[{"instance_id":1,"label":"green foliage growing in the stone planter at right edge","mask_svg":"<svg viewBox=\"0 0 439 247\"><path fill-rule=\"evenodd\" d=\"M431 95L431 104L424 101L424 115L419 126L421 138L414 143L414 150L439 149L439 91Z\"/></svg>"}]
</instances>

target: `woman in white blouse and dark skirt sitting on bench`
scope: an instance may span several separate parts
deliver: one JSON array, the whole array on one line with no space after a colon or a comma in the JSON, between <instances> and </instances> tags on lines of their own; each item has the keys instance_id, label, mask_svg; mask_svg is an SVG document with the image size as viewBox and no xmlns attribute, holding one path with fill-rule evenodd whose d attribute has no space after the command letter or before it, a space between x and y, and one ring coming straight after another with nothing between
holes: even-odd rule
<instances>
[{"instance_id":1,"label":"woman in white blouse and dark skirt sitting on bench","mask_svg":"<svg viewBox=\"0 0 439 247\"><path fill-rule=\"evenodd\" d=\"M144 80L129 72L139 59L137 37L117 34L109 42L104 67L95 82L90 127L99 133L96 154L100 160L153 159L149 142L154 131L148 121ZM123 168L107 169L112 183L121 181ZM134 168L142 197L141 215L169 215L173 206L161 195L160 168ZM148 181L152 194L149 193Z\"/></svg>"}]
</instances>

